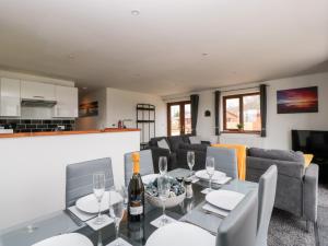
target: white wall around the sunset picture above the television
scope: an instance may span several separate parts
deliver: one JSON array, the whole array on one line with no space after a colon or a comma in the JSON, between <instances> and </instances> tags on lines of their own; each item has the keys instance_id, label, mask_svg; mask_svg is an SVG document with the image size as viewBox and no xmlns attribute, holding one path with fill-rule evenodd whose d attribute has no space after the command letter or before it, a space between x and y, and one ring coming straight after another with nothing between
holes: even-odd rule
<instances>
[{"instance_id":1,"label":"white wall around the sunset picture above the television","mask_svg":"<svg viewBox=\"0 0 328 246\"><path fill-rule=\"evenodd\" d=\"M328 130L328 73L286 78L268 84L267 148L291 149L291 130ZM319 113L277 114L277 91L294 87L318 86Z\"/></svg>"}]
</instances>

